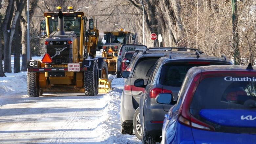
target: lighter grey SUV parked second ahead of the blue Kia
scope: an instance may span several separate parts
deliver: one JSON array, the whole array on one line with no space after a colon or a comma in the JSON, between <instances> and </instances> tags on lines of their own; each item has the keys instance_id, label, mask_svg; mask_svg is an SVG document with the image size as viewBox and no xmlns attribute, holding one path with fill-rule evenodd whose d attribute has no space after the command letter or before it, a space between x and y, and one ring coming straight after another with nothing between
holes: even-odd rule
<instances>
[{"instance_id":1,"label":"lighter grey SUV parked second ahead of the blue Kia","mask_svg":"<svg viewBox=\"0 0 256 144\"><path fill-rule=\"evenodd\" d=\"M130 62L129 70L121 73L121 76L126 79L121 96L120 121L122 134L133 133L133 115L139 107L139 97L144 92L144 88L134 86L134 81L141 78L146 83L156 61L160 57L168 55L170 51L170 49L148 49L136 53L136 56L133 56ZM135 131L135 133L137 132Z\"/></svg>"}]
</instances>

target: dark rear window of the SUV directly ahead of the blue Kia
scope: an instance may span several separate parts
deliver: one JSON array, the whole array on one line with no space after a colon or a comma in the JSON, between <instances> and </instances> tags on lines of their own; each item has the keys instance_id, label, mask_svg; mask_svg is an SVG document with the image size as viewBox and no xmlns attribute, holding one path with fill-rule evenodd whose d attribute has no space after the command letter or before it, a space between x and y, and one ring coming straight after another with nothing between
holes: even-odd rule
<instances>
[{"instance_id":1,"label":"dark rear window of the SUV directly ahead of the blue Kia","mask_svg":"<svg viewBox=\"0 0 256 144\"><path fill-rule=\"evenodd\" d=\"M171 87L181 87L187 71L192 67L207 66L210 63L176 62L162 66L160 84Z\"/></svg>"}]
</instances>

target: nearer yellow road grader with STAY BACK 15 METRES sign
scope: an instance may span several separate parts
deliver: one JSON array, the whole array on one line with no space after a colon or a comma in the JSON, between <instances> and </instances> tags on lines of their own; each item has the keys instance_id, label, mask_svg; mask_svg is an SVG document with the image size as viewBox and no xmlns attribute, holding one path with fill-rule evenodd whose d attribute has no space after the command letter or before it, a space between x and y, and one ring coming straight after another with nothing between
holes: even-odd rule
<instances>
[{"instance_id":1,"label":"nearer yellow road grader with STAY BACK 15 METRES sign","mask_svg":"<svg viewBox=\"0 0 256 144\"><path fill-rule=\"evenodd\" d=\"M44 92L83 92L97 95L110 91L107 64L96 57L99 31L97 20L83 12L45 12L40 21L41 37L45 39L42 60L27 62L27 90L30 97Z\"/></svg>"}]
</instances>

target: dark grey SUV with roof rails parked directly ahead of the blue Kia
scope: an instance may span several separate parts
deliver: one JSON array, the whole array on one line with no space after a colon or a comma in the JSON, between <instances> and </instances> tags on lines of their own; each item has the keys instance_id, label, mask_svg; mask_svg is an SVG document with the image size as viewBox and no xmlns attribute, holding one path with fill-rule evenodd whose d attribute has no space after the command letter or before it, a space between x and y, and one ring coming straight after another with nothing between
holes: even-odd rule
<instances>
[{"instance_id":1,"label":"dark grey SUV with roof rails parked directly ahead of the blue Kia","mask_svg":"<svg viewBox=\"0 0 256 144\"><path fill-rule=\"evenodd\" d=\"M139 108L134 117L138 117L142 126L142 143L156 143L162 135L164 115L173 104L165 105L156 102L159 93L172 93L177 99L181 84L187 71L195 66L232 65L232 62L223 57L213 57L202 52L171 52L160 58L152 68L148 82L144 79L134 81L135 87L145 88L140 96ZM141 114L142 113L142 114ZM136 115L137 114L137 115ZM135 119L134 124L138 121Z\"/></svg>"}]
</instances>

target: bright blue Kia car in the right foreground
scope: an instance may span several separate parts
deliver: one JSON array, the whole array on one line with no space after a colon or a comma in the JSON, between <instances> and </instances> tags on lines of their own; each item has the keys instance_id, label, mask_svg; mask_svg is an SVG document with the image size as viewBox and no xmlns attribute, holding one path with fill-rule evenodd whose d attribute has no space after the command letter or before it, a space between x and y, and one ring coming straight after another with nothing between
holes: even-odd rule
<instances>
[{"instance_id":1,"label":"bright blue Kia car in the right foreground","mask_svg":"<svg viewBox=\"0 0 256 144\"><path fill-rule=\"evenodd\" d=\"M171 93L156 100L176 103L165 115L162 144L256 143L256 67L193 67L177 100Z\"/></svg>"}]
</instances>

